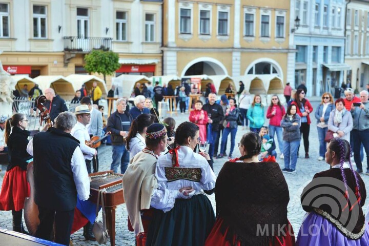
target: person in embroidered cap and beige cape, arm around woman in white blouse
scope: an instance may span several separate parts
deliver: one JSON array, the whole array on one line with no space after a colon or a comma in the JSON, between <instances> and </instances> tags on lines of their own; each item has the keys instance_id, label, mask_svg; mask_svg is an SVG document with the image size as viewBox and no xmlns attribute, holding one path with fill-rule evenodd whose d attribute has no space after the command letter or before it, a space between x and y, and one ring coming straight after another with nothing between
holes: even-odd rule
<instances>
[{"instance_id":1,"label":"person in embroidered cap and beige cape, arm around woman in white blouse","mask_svg":"<svg viewBox=\"0 0 369 246\"><path fill-rule=\"evenodd\" d=\"M129 227L136 234L137 245L146 244L152 215L151 207L169 211L176 198L190 198L191 187L177 190L157 190L155 167L157 157L167 146L167 129L154 123L146 131L146 148L133 157L123 176L123 193L129 216ZM131 229L132 230L132 229Z\"/></svg>"}]
</instances>

